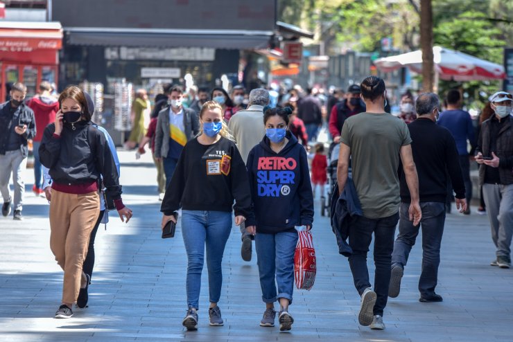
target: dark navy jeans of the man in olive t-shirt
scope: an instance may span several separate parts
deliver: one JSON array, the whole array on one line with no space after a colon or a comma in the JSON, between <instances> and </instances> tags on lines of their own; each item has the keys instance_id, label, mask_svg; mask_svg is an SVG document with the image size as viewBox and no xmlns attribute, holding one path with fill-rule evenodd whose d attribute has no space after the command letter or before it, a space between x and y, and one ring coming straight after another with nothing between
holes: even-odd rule
<instances>
[{"instance_id":1,"label":"dark navy jeans of the man in olive t-shirt","mask_svg":"<svg viewBox=\"0 0 513 342\"><path fill-rule=\"evenodd\" d=\"M374 291L378 296L373 310L375 315L383 316L383 309L387 305L395 226L398 221L398 213L380 219L356 216L349 226L349 246L353 250L349 257L349 267L353 273L354 287L360 296L370 287L367 252L374 233Z\"/></svg>"}]
</instances>

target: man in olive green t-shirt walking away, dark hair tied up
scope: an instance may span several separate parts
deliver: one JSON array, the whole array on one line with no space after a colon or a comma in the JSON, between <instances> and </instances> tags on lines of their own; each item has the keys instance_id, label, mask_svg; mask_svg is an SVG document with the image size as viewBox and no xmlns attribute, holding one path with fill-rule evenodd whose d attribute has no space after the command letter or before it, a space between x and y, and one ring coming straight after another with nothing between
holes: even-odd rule
<instances>
[{"instance_id":1,"label":"man in olive green t-shirt walking away, dark hair tied up","mask_svg":"<svg viewBox=\"0 0 513 342\"><path fill-rule=\"evenodd\" d=\"M338 188L343 189L352 159L352 175L363 216L356 216L349 226L349 266L354 285L361 296L358 321L371 329L383 330L383 310L388 299L390 266L394 249L395 227L399 221L399 158L403 163L412 198L410 219L419 224L419 180L413 162L410 132L403 120L385 113L385 82L369 76L360 84L360 97L367 111L345 121L340 136ZM341 190L340 190L341 192ZM374 233L374 291L369 282L367 251Z\"/></svg>"}]
</instances>

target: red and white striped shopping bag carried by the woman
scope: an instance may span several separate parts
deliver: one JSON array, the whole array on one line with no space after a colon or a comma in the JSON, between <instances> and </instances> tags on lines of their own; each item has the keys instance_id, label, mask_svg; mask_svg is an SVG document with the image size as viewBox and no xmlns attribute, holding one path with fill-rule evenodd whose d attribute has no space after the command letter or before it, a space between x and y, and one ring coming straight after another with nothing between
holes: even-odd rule
<instances>
[{"instance_id":1,"label":"red and white striped shopping bag carried by the woman","mask_svg":"<svg viewBox=\"0 0 513 342\"><path fill-rule=\"evenodd\" d=\"M317 264L313 248L312 233L299 231L296 251L294 254L294 277L298 289L310 290L315 282Z\"/></svg>"}]
</instances>

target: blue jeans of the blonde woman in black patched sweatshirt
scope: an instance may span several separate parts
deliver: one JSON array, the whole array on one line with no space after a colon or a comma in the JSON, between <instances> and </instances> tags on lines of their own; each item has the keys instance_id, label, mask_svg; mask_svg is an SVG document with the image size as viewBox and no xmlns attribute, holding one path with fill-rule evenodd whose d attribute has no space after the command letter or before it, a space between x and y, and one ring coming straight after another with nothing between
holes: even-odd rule
<instances>
[{"instance_id":1,"label":"blue jeans of the blonde woman in black patched sweatshirt","mask_svg":"<svg viewBox=\"0 0 513 342\"><path fill-rule=\"evenodd\" d=\"M182 237L187 252L187 305L198 309L201 271L207 245L209 297L218 303L223 285L223 253L232 231L232 213L224 211L182 210Z\"/></svg>"}]
</instances>

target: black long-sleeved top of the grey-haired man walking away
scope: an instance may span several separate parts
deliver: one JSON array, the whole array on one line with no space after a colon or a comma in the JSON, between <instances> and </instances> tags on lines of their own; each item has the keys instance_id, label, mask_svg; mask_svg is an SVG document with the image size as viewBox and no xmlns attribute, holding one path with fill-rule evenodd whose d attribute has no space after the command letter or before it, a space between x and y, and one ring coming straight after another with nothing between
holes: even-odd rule
<instances>
[{"instance_id":1,"label":"black long-sleeved top of the grey-haired man walking away","mask_svg":"<svg viewBox=\"0 0 513 342\"><path fill-rule=\"evenodd\" d=\"M413 161L419 175L420 201L445 203L448 172L456 198L464 199L460 155L451 132L428 118L418 118L408 125L408 129L412 138ZM401 201L410 203L410 190L402 165L399 167L399 177Z\"/></svg>"}]
</instances>

